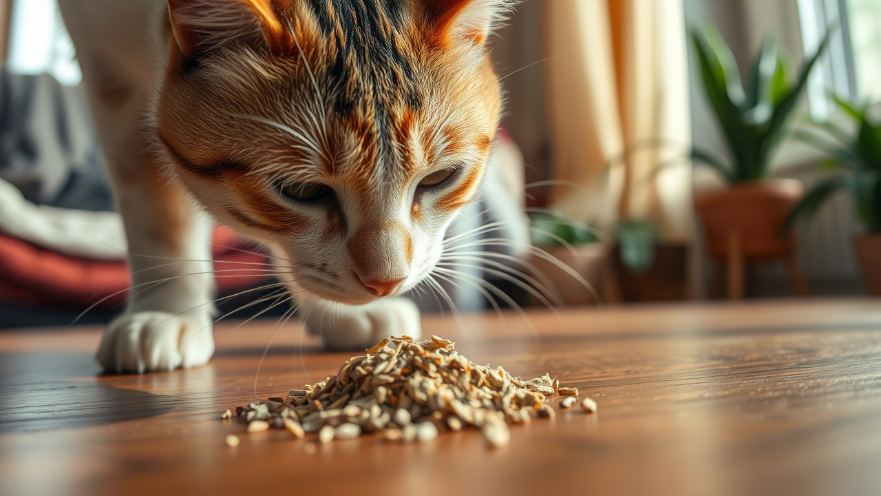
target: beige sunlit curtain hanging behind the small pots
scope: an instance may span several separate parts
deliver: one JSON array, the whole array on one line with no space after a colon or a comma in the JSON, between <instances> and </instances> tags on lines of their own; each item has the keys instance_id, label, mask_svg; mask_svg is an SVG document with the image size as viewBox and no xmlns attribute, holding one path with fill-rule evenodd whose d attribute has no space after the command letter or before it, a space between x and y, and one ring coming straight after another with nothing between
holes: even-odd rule
<instances>
[{"instance_id":1,"label":"beige sunlit curtain hanging behind the small pots","mask_svg":"<svg viewBox=\"0 0 881 496\"><path fill-rule=\"evenodd\" d=\"M600 222L648 217L672 237L690 237L689 166L653 173L691 139L682 0L544 6L553 179L582 186L555 186L552 207ZM680 147L639 145L652 139ZM626 150L634 153L608 169Z\"/></svg>"}]
</instances>

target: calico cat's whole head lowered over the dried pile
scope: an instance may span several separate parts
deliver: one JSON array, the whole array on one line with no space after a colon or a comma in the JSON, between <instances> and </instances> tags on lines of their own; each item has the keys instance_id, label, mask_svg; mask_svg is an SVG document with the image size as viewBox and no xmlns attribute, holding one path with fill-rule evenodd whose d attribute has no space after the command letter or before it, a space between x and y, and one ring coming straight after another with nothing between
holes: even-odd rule
<instances>
[{"instance_id":1,"label":"calico cat's whole head lowered over the dried pile","mask_svg":"<svg viewBox=\"0 0 881 496\"><path fill-rule=\"evenodd\" d=\"M221 221L319 297L420 282L485 173L512 0L168 0L155 129Z\"/></svg>"}]
</instances>

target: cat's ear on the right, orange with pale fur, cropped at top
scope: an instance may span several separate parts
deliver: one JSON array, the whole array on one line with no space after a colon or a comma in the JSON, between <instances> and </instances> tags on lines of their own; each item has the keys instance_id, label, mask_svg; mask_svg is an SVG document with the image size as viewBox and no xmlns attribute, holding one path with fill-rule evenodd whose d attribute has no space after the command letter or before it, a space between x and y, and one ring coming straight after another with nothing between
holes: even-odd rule
<instances>
[{"instance_id":1,"label":"cat's ear on the right, orange with pale fur, cropped at top","mask_svg":"<svg viewBox=\"0 0 881 496\"><path fill-rule=\"evenodd\" d=\"M445 45L483 46L492 29L522 0L421 0L434 34Z\"/></svg>"}]
</instances>

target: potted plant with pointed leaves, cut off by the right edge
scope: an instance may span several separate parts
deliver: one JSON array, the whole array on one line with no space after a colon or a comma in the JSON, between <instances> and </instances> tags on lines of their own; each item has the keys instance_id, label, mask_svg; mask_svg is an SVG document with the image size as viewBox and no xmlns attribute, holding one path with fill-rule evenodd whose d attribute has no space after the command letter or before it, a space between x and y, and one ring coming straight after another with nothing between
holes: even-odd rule
<instances>
[{"instance_id":1,"label":"potted plant with pointed leaves, cut off by the right edge","mask_svg":"<svg viewBox=\"0 0 881 496\"><path fill-rule=\"evenodd\" d=\"M848 133L830 122L796 132L797 138L830 154L833 158L824 168L837 173L814 184L792 209L785 229L790 230L798 217L813 216L834 193L850 192L866 231L854 238L856 256L870 294L881 296L881 122L870 115L870 105L833 100L855 122L856 132Z\"/></svg>"}]
</instances>

